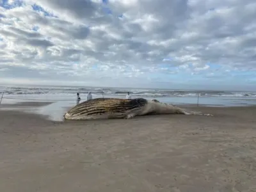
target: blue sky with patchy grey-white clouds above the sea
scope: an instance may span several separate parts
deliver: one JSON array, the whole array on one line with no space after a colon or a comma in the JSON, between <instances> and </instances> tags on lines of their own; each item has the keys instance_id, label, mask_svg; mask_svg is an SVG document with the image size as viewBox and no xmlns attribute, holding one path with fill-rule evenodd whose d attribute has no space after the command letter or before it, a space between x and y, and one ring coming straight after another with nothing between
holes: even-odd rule
<instances>
[{"instance_id":1,"label":"blue sky with patchy grey-white clouds above the sea","mask_svg":"<svg viewBox=\"0 0 256 192\"><path fill-rule=\"evenodd\" d=\"M0 83L256 90L255 0L0 0Z\"/></svg>"}]
</instances>

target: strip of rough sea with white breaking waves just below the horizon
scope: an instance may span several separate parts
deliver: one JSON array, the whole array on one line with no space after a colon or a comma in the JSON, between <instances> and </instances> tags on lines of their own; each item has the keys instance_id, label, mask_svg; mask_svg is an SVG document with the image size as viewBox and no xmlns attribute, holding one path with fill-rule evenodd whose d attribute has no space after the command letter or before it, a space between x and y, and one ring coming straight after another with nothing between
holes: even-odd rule
<instances>
[{"instance_id":1,"label":"strip of rough sea with white breaking waves just below the horizon","mask_svg":"<svg viewBox=\"0 0 256 192\"><path fill-rule=\"evenodd\" d=\"M80 95L92 92L93 95L126 95L132 97L256 97L256 92L224 92L205 90L166 90L134 88L95 88L67 86L0 86L0 92L7 95Z\"/></svg>"}]
</instances>

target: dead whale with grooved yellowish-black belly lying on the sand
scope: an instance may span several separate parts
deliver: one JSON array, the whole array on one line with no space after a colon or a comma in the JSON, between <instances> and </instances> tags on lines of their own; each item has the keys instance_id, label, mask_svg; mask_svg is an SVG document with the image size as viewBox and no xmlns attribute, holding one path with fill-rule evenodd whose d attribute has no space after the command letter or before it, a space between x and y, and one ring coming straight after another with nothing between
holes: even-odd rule
<instances>
[{"instance_id":1,"label":"dead whale with grooved yellowish-black belly lying on the sand","mask_svg":"<svg viewBox=\"0 0 256 192\"><path fill-rule=\"evenodd\" d=\"M186 112L172 104L159 102L156 99L117 99L97 98L86 100L65 113L66 120L95 120L106 118L132 118L140 115L183 114L209 115L200 112Z\"/></svg>"}]
</instances>

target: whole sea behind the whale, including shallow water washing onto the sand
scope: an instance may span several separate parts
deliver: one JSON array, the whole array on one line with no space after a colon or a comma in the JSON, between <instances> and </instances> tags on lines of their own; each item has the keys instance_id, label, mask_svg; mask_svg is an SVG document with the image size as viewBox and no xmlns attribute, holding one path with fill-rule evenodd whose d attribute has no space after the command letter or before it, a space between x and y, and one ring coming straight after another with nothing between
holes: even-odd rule
<instances>
[{"instance_id":1,"label":"whole sea behind the whale, including shallow water washing onto the sand","mask_svg":"<svg viewBox=\"0 0 256 192\"><path fill-rule=\"evenodd\" d=\"M102 88L79 86L38 86L38 85L8 85L0 86L0 109L4 104L17 102L52 102L42 107L13 107L13 110L46 115L50 120L62 121L63 114L68 108L76 105L76 93L80 94L81 101L86 100L88 92L92 92L93 98L116 97L125 98L127 92L132 98L143 97L145 99L157 99L160 102L172 104L198 104L205 106L248 106L256 104L256 92L230 92L218 90L174 90L156 88ZM198 97L199 95L199 97Z\"/></svg>"}]
</instances>

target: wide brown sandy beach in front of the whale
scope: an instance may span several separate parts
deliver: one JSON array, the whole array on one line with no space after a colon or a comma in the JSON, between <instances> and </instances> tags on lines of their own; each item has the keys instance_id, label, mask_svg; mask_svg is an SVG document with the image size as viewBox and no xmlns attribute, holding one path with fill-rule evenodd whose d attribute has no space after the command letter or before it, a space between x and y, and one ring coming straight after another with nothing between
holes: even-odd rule
<instances>
[{"instance_id":1,"label":"wide brown sandy beach in front of the whale","mask_svg":"<svg viewBox=\"0 0 256 192\"><path fill-rule=\"evenodd\" d=\"M0 111L0 191L256 191L256 108L191 110L214 116Z\"/></svg>"}]
</instances>

